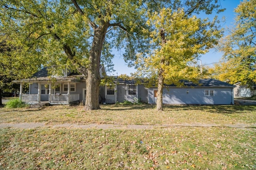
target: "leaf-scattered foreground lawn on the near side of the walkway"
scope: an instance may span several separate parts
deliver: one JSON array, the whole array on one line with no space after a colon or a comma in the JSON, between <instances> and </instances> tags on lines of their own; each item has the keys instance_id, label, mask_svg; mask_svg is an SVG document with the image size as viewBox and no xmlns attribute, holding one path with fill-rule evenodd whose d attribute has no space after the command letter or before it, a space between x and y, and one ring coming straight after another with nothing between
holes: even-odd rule
<instances>
[{"instance_id":1,"label":"leaf-scattered foreground lawn on the near side of the walkway","mask_svg":"<svg viewBox=\"0 0 256 170\"><path fill-rule=\"evenodd\" d=\"M255 169L255 131L0 129L0 169Z\"/></svg>"}]
</instances>

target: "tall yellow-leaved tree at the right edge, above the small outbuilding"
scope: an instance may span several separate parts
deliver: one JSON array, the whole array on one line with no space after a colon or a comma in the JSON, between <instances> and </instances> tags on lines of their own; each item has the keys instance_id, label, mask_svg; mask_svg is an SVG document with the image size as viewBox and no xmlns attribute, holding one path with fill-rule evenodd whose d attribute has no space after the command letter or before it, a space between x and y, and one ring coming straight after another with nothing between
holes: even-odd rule
<instances>
[{"instance_id":1,"label":"tall yellow-leaved tree at the right edge, above the small outbuilding","mask_svg":"<svg viewBox=\"0 0 256 170\"><path fill-rule=\"evenodd\" d=\"M235 25L220 43L224 53L214 66L213 75L231 84L241 82L252 87L256 83L256 0L244 0L235 9Z\"/></svg>"}]
</instances>

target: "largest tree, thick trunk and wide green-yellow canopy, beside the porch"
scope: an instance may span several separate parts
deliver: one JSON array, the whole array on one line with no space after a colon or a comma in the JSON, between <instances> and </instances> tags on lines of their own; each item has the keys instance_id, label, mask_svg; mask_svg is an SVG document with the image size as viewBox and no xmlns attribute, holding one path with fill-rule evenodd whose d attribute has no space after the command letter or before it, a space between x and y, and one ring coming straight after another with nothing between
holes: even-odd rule
<instances>
[{"instance_id":1,"label":"largest tree, thick trunk and wide green-yellow canopy, beside the porch","mask_svg":"<svg viewBox=\"0 0 256 170\"><path fill-rule=\"evenodd\" d=\"M125 50L125 61L145 47L138 41L145 25L141 0L2 0L0 6L0 30L22 45L24 57L40 53L45 66L84 75L86 110L99 109L99 67L112 67L112 47Z\"/></svg>"}]
</instances>

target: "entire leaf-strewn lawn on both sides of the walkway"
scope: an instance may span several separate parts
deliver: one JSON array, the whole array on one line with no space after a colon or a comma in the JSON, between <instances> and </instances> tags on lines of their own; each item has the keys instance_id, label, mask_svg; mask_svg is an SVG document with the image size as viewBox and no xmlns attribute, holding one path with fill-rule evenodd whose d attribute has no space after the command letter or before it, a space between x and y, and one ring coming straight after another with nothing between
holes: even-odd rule
<instances>
[{"instance_id":1,"label":"entire leaf-strewn lawn on both sides of the walkway","mask_svg":"<svg viewBox=\"0 0 256 170\"><path fill-rule=\"evenodd\" d=\"M171 125L244 123L255 127L256 106L101 105L43 109L0 108L0 123L46 127L0 128L1 169L256 169L256 128L168 127L153 130L53 128L47 125Z\"/></svg>"}]
</instances>

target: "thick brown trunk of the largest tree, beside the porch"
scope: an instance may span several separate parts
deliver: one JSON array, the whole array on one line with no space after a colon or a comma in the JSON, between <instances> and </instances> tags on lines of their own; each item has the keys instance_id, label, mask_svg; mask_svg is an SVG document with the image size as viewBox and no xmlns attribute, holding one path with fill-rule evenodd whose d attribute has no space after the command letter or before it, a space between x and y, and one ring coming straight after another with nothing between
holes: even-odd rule
<instances>
[{"instance_id":1,"label":"thick brown trunk of the largest tree, beside the porch","mask_svg":"<svg viewBox=\"0 0 256 170\"><path fill-rule=\"evenodd\" d=\"M85 110L100 109L100 55L109 24L105 23L94 30L94 39L90 50L90 64L86 67Z\"/></svg>"}]
</instances>

